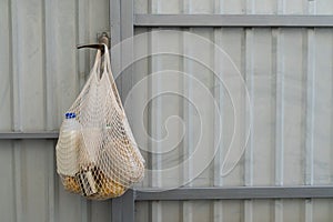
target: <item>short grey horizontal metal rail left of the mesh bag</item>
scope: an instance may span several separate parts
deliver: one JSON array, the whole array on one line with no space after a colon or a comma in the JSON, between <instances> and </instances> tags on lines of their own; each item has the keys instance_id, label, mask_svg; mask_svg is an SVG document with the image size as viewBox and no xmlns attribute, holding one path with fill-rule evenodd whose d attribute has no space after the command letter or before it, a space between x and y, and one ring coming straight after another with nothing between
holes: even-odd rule
<instances>
[{"instance_id":1,"label":"short grey horizontal metal rail left of the mesh bag","mask_svg":"<svg viewBox=\"0 0 333 222\"><path fill-rule=\"evenodd\" d=\"M21 139L58 139L59 132L0 132L0 140L21 140Z\"/></svg>"}]
</instances>

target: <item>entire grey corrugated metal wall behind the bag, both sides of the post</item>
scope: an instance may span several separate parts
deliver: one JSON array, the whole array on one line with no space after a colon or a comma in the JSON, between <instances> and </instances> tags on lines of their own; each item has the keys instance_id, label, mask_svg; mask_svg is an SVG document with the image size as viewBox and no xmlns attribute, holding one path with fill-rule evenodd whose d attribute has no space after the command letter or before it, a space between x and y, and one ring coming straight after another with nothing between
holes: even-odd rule
<instances>
[{"instance_id":1,"label":"entire grey corrugated metal wall behind the bag, both sides of the post","mask_svg":"<svg viewBox=\"0 0 333 222\"><path fill-rule=\"evenodd\" d=\"M134 13L278 13L332 14L331 0L168 0L134 1ZM84 83L93 54L78 53L79 42L94 42L99 31L109 29L108 0L0 0L0 130L58 130L62 113ZM159 30L159 29L152 29ZM175 29L181 30L181 29ZM150 31L137 28L135 33ZM198 132L195 110L182 98L165 95L152 100L143 118L135 108L149 94L178 89L196 97L180 77L176 81L155 79L142 94L127 98L130 89L151 72L180 70L199 79L223 108L223 143L212 164L191 186L232 185L332 185L333 173L333 31L332 29L242 29L191 28L221 46L241 68L249 85L253 129L246 152L228 176L220 176L221 159L232 134L232 105L223 89L216 89L211 71L178 57L153 57L133 65L131 81L122 81L123 99L134 135L143 119L153 138L165 135L168 117L184 121L184 140L164 157L145 154L148 165L175 165L193 149ZM135 49L151 50L159 43L186 49L182 34L151 36ZM213 64L214 54L202 50ZM216 64L218 65L218 64ZM240 94L244 98L244 94ZM222 103L223 102L223 103ZM201 117L209 133L203 138L208 152L214 141L212 104ZM243 119L240 121L242 127ZM182 128L169 125L179 140ZM241 140L242 135L236 138ZM144 137L143 137L144 138ZM111 202L91 202L65 193L54 170L52 140L0 141L0 221L111 221ZM148 140L142 148L152 147ZM165 144L168 148L168 144ZM172 185L189 171L164 180L147 175L142 188ZM137 221L331 221L332 200L245 200L245 201L154 201L137 202Z\"/></svg>"}]
</instances>

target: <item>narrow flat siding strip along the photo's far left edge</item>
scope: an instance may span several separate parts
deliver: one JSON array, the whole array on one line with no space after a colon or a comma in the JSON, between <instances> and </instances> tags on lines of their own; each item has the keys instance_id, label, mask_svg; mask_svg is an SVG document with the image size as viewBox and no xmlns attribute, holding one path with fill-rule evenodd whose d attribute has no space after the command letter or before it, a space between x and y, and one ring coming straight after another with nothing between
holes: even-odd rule
<instances>
[{"instance_id":1,"label":"narrow flat siding strip along the photo's far left edge","mask_svg":"<svg viewBox=\"0 0 333 222\"><path fill-rule=\"evenodd\" d=\"M11 9L9 1L0 2L0 129L9 131L12 128L12 90L11 90ZM0 141L0 215L1 220L16 221L16 193L14 193L14 163L13 144L10 141Z\"/></svg>"}]
</instances>

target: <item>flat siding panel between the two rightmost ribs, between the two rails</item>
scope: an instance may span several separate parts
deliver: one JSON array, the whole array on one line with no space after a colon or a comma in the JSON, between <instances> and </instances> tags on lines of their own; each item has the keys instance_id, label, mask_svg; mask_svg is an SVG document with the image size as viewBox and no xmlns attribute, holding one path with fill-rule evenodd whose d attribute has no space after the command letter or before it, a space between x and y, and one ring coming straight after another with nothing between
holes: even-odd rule
<instances>
[{"instance_id":1,"label":"flat siding panel between the two rightmost ribs, between the two rails","mask_svg":"<svg viewBox=\"0 0 333 222\"><path fill-rule=\"evenodd\" d=\"M285 162L284 184L302 184L304 182L303 141L304 133L304 63L303 31L296 29L284 30L285 52Z\"/></svg>"}]
</instances>

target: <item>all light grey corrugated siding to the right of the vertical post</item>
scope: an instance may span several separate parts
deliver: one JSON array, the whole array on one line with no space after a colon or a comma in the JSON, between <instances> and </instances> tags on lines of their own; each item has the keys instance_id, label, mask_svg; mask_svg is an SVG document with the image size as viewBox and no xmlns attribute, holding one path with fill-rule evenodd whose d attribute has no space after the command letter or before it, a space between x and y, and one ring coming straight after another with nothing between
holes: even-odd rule
<instances>
[{"instance_id":1,"label":"all light grey corrugated siding to the right of the vertical post","mask_svg":"<svg viewBox=\"0 0 333 222\"><path fill-rule=\"evenodd\" d=\"M319 1L134 1L137 13L255 13L255 14L332 14L330 0ZM137 28L135 34L162 29ZM239 121L253 123L251 137L244 157L236 168L221 178L221 160L231 141L233 132L233 108L224 89L214 89L214 74L191 60L173 56L153 56L138 61L134 69L134 83L142 80L144 73L163 72L164 75L176 70L195 77L211 89L215 101L222 109L222 145L214 162L206 168L189 186L230 186L230 185L332 185L333 152L333 30L303 28L190 28L182 30L208 38L225 50L240 68L249 89L253 119L245 115ZM222 70L223 64L214 60L212 50L192 49L181 33L168 37L152 32L144 42L148 50L169 46L180 51L193 50L203 53L210 64ZM137 46L138 47L138 46ZM140 44L137 50L144 50ZM192 47L192 48L191 48ZM167 70L167 71L165 71ZM225 70L224 70L225 71ZM228 70L226 70L228 71ZM139 74L139 75L137 75ZM154 78L147 83L147 91L127 98L134 104L127 110L131 122L140 122L142 115L135 114L139 103L150 100L150 94L170 90L182 91L186 99L199 97L191 85L193 82L179 79ZM222 87L223 88L223 87ZM240 93L241 107L245 110L245 95ZM124 95L125 98L125 95ZM165 169L183 161L198 143L200 129L209 131L203 135L206 152L211 152L214 141L214 113L212 104L201 101L195 107L184 98L169 94L152 99L148 103L143 118L147 130L154 139L162 139L169 132L185 135L174 152L157 155L148 154L149 167ZM198 100L196 100L198 101ZM138 109L135 109L135 107ZM204 125L198 124L195 109L205 108L200 118ZM169 117L178 115L183 125L165 122ZM133 124L137 138L142 137L141 128ZM244 134L236 135L240 142ZM179 139L179 138L178 138ZM140 139L141 140L141 139ZM140 141L142 148L151 152L162 152L168 143L157 147ZM165 148L164 148L165 145ZM169 144L170 145L170 144ZM150 164L151 163L151 164ZM168 186L183 178L191 176L193 164L174 175L170 181L162 175L148 175L143 186ZM192 164L192 165L191 165ZM184 202L139 202L137 221L331 221L332 200L255 200L255 201L184 201Z\"/></svg>"}]
</instances>

